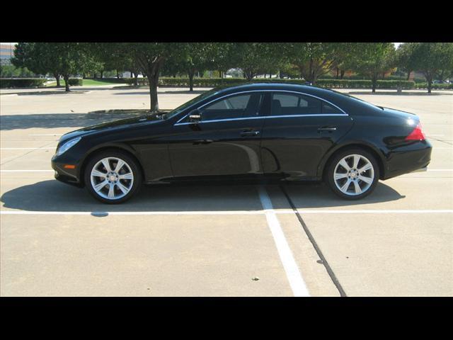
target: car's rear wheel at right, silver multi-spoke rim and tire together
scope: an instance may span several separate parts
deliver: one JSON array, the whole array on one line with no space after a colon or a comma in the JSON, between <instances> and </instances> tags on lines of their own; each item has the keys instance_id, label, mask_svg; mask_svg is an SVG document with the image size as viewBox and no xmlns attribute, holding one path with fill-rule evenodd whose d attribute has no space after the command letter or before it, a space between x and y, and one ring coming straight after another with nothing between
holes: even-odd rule
<instances>
[{"instance_id":1,"label":"car's rear wheel at right, silver multi-spoke rim and tire together","mask_svg":"<svg viewBox=\"0 0 453 340\"><path fill-rule=\"evenodd\" d=\"M358 164L355 163L357 159ZM360 171L361 169L366 170ZM346 200L360 200L376 188L379 181L379 164L376 158L364 149L345 149L333 156L326 176L328 186L338 196Z\"/></svg>"}]
</instances>

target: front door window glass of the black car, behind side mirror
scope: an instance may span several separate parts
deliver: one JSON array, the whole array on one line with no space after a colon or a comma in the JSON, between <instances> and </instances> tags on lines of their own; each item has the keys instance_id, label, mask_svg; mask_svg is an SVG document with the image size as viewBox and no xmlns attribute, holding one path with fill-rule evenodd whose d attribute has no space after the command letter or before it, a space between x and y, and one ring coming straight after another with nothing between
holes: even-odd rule
<instances>
[{"instance_id":1,"label":"front door window glass of the black car, behind side mirror","mask_svg":"<svg viewBox=\"0 0 453 340\"><path fill-rule=\"evenodd\" d=\"M259 115L262 100L260 93L229 96L202 108L202 121L255 117Z\"/></svg>"}]
</instances>

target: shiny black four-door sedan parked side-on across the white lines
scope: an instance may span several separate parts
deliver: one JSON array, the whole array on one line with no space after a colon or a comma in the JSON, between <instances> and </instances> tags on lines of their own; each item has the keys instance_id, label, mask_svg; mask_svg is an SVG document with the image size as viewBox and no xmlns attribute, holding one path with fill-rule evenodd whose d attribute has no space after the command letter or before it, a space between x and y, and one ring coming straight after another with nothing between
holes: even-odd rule
<instances>
[{"instance_id":1,"label":"shiny black four-door sedan parked side-on across the white lines","mask_svg":"<svg viewBox=\"0 0 453 340\"><path fill-rule=\"evenodd\" d=\"M69 132L52 168L104 203L124 202L142 182L208 179L324 180L355 200L379 179L428 166L431 149L412 113L314 86L250 84Z\"/></svg>"}]
</instances>

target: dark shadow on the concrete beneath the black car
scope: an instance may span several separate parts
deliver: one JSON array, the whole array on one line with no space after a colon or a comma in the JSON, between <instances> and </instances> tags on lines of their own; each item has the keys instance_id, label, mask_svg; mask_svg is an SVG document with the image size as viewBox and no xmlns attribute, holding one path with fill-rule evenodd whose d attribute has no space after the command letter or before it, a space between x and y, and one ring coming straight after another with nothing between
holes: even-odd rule
<instances>
[{"instance_id":1,"label":"dark shadow on the concrete beneath the black car","mask_svg":"<svg viewBox=\"0 0 453 340\"><path fill-rule=\"evenodd\" d=\"M269 192L280 190L279 186L266 185ZM358 201L337 198L323 184L285 186L296 208L341 208L346 205L371 204L399 200L394 189L379 183L372 195ZM280 193L282 193L280 191ZM271 198L274 196L272 194ZM171 184L143 186L137 196L120 205L98 203L85 189L68 186L56 180L40 181L14 188L1 196L4 208L27 211L236 211L262 210L257 185L219 184ZM289 209L286 200L273 200L275 209Z\"/></svg>"}]
</instances>

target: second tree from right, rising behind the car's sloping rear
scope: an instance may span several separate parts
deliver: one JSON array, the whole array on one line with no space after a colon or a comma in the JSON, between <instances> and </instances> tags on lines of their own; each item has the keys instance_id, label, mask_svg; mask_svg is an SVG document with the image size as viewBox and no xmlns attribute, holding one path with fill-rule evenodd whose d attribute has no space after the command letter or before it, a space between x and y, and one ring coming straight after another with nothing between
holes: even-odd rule
<instances>
[{"instance_id":1,"label":"second tree from right, rising behind the car's sloping rear","mask_svg":"<svg viewBox=\"0 0 453 340\"><path fill-rule=\"evenodd\" d=\"M372 80L372 92L376 92L379 74L389 71L395 63L395 47L392 42L357 42L351 46L354 69Z\"/></svg>"}]
</instances>

